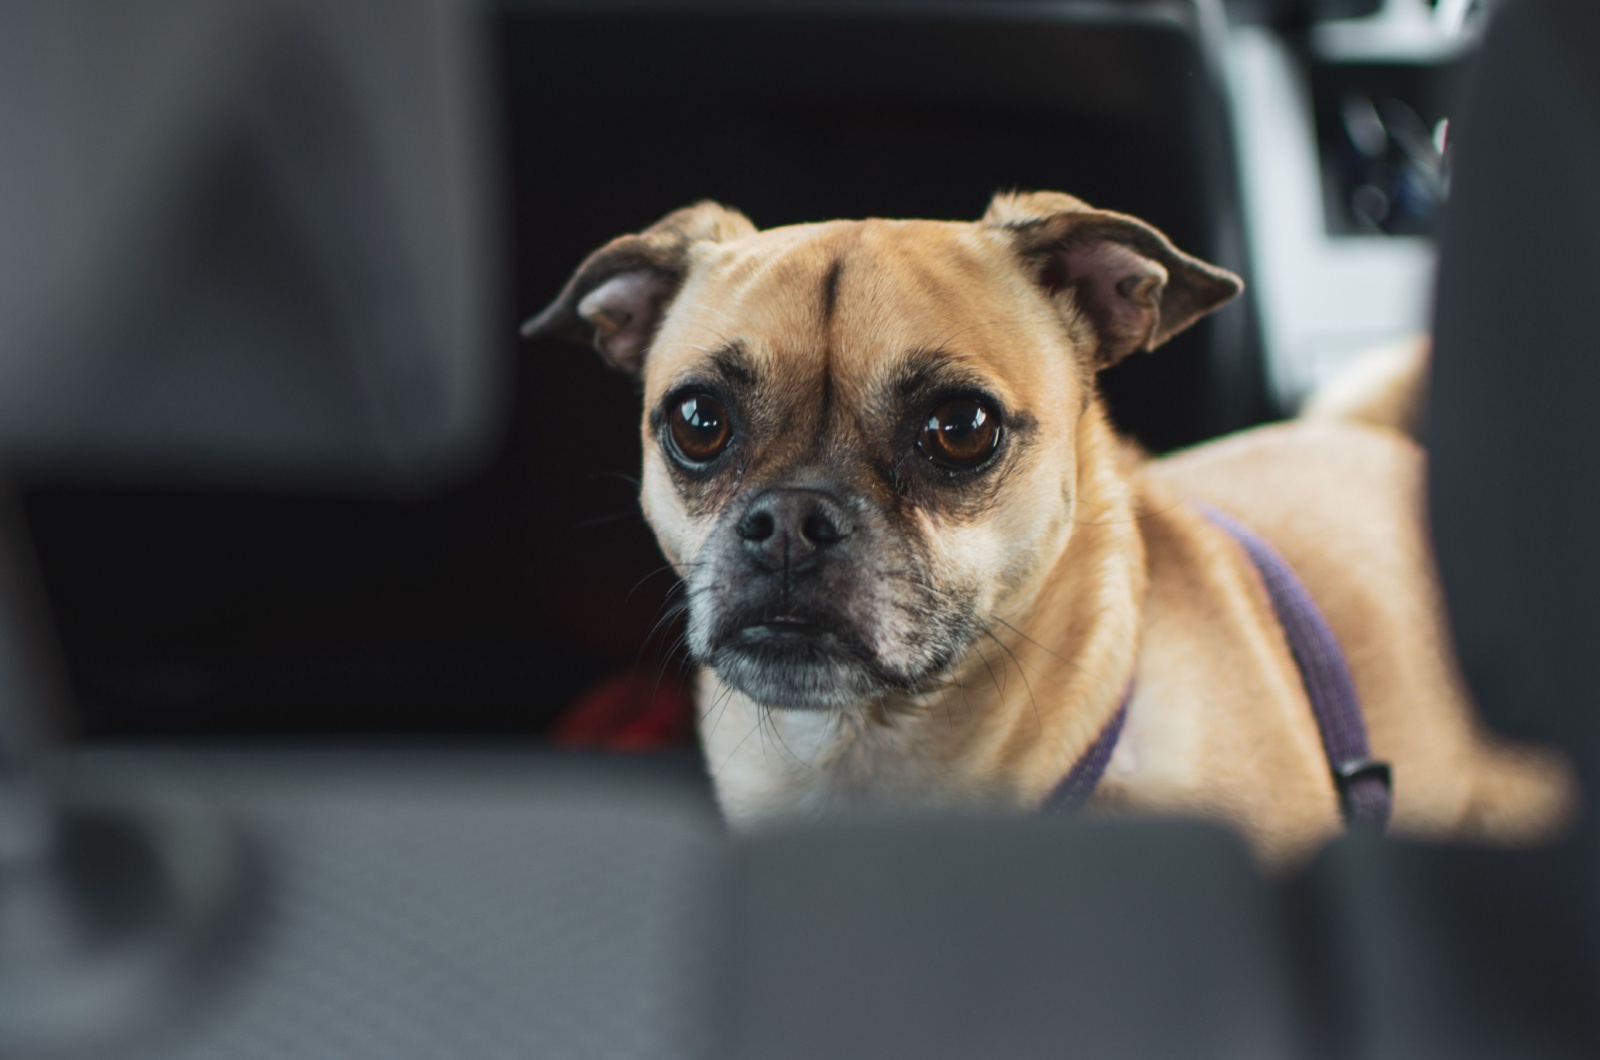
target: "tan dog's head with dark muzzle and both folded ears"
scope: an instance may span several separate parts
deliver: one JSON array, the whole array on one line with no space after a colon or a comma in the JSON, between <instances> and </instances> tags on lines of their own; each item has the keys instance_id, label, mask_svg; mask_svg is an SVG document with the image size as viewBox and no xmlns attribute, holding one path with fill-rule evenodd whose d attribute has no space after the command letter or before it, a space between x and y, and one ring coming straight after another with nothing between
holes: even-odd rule
<instances>
[{"instance_id":1,"label":"tan dog's head with dark muzzle and both folded ears","mask_svg":"<svg viewBox=\"0 0 1600 1060\"><path fill-rule=\"evenodd\" d=\"M1074 525L1094 373L1240 290L1128 216L758 232L699 203L602 247L525 327L645 384L642 500L696 660L846 708L949 673Z\"/></svg>"}]
</instances>

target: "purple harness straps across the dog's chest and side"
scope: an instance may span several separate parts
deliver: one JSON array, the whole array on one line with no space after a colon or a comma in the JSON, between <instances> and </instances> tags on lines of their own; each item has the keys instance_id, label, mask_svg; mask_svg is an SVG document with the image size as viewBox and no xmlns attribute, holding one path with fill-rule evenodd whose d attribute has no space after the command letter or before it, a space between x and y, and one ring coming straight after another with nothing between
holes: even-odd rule
<instances>
[{"instance_id":1,"label":"purple harness straps across the dog's chest and side","mask_svg":"<svg viewBox=\"0 0 1600 1060\"><path fill-rule=\"evenodd\" d=\"M1310 698L1312 714L1322 732L1322 748L1333 772L1333 785L1339 793L1344 823L1352 828L1374 826L1381 831L1389 823L1394 805L1389 764L1371 757L1362 701L1355 695L1355 682L1350 681L1350 668L1339 640L1328 628L1317 602L1310 599L1310 592L1277 549L1232 516L1210 506L1200 506L1200 511L1240 543L1261 573L1290 653L1299 666L1306 695ZM1117 713L1045 801L1046 807L1077 809L1094 793L1110 762L1117 737L1122 735L1131 698L1130 684Z\"/></svg>"}]
</instances>

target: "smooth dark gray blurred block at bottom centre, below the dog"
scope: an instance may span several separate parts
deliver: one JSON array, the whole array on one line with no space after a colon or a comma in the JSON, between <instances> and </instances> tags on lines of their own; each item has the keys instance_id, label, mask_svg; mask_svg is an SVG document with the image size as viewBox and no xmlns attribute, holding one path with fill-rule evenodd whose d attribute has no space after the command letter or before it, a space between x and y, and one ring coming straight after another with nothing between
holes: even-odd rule
<instances>
[{"instance_id":1,"label":"smooth dark gray blurred block at bottom centre, below the dog","mask_svg":"<svg viewBox=\"0 0 1600 1060\"><path fill-rule=\"evenodd\" d=\"M733 1057L1298 1047L1272 895L1222 831L885 821L763 837L738 868Z\"/></svg>"}]
</instances>

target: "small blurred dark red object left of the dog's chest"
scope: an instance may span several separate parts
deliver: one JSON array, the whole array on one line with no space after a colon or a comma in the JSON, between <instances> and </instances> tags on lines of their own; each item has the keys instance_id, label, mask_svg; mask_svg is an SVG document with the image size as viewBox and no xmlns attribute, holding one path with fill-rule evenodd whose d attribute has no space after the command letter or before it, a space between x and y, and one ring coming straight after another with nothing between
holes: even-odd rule
<instances>
[{"instance_id":1,"label":"small blurred dark red object left of the dog's chest","mask_svg":"<svg viewBox=\"0 0 1600 1060\"><path fill-rule=\"evenodd\" d=\"M683 674L654 668L606 677L555 719L550 743L562 748L648 751L693 738Z\"/></svg>"}]
</instances>

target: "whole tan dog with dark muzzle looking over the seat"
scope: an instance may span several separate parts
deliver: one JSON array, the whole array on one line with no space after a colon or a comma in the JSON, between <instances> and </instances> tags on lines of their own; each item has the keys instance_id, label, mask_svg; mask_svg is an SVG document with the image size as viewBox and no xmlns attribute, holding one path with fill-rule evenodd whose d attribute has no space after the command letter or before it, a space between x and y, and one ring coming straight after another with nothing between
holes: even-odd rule
<instances>
[{"instance_id":1,"label":"whole tan dog with dark muzzle looking over the seat","mask_svg":"<svg viewBox=\"0 0 1600 1060\"><path fill-rule=\"evenodd\" d=\"M731 821L1037 807L1131 681L1093 807L1221 817L1270 863L1339 833L1262 583L1197 500L1323 608L1397 831L1515 842L1565 818L1562 761L1472 716L1414 444L1294 423L1149 463L1112 434L1096 371L1238 290L1062 194L766 232L699 203L584 261L525 333L643 378L642 500L685 580Z\"/></svg>"}]
</instances>

